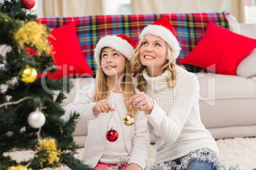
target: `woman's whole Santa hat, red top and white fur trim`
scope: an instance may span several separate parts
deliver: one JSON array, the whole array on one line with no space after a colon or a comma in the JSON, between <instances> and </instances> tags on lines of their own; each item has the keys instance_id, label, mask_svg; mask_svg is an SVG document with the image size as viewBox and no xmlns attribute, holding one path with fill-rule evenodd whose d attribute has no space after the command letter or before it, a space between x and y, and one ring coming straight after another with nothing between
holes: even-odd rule
<instances>
[{"instance_id":1,"label":"woman's whole Santa hat, red top and white fur trim","mask_svg":"<svg viewBox=\"0 0 256 170\"><path fill-rule=\"evenodd\" d=\"M142 39L146 34L158 36L166 41L171 49L173 49L175 59L180 55L180 44L175 37L173 25L171 25L171 22L166 16L162 16L162 18L153 22L152 25L145 27L145 29L142 30L139 39Z\"/></svg>"}]
</instances>

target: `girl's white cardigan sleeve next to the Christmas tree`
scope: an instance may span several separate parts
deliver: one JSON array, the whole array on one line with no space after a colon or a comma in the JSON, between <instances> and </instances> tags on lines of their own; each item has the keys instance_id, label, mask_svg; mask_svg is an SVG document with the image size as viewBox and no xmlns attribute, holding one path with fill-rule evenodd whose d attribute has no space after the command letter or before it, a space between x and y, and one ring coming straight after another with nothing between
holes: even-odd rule
<instances>
[{"instance_id":1,"label":"girl's white cardigan sleeve next to the Christmas tree","mask_svg":"<svg viewBox=\"0 0 256 170\"><path fill-rule=\"evenodd\" d=\"M92 107L96 105L96 103L93 102L94 89L95 86L90 84L78 91L74 101L64 108L66 119L69 119L70 115L75 112L76 114L80 114L79 121L81 122L96 119L97 115L94 115L92 112Z\"/></svg>"}]
</instances>

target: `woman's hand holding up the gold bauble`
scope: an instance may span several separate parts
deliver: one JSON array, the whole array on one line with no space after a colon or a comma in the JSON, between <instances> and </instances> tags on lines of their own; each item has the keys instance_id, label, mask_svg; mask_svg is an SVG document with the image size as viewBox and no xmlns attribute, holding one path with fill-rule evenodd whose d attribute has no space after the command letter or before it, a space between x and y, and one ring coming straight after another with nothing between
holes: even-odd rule
<instances>
[{"instance_id":1,"label":"woman's hand holding up the gold bauble","mask_svg":"<svg viewBox=\"0 0 256 170\"><path fill-rule=\"evenodd\" d=\"M143 92L139 92L138 94L132 96L128 100L127 105L133 105L140 111L148 110L148 112L145 112L145 114L150 114L153 110L153 100Z\"/></svg>"}]
</instances>

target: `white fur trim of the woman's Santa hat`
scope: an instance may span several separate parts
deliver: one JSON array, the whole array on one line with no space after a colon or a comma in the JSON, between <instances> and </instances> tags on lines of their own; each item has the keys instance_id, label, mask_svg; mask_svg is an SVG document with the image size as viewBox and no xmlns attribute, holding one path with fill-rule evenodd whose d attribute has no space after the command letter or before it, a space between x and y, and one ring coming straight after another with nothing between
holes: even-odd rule
<instances>
[{"instance_id":1,"label":"white fur trim of the woman's Santa hat","mask_svg":"<svg viewBox=\"0 0 256 170\"><path fill-rule=\"evenodd\" d=\"M180 55L180 44L176 37L171 33L170 30L166 29L165 27L159 25L148 25L145 29L142 30L139 39L142 39L143 36L146 34L151 34L153 36L157 36L162 38L167 44L173 49L174 58L178 58Z\"/></svg>"}]
</instances>

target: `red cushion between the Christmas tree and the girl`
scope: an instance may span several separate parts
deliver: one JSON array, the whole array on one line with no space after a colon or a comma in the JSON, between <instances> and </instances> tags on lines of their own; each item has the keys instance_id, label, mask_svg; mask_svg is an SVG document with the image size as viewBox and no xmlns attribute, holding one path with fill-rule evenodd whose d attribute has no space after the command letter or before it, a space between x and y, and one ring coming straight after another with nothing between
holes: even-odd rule
<instances>
[{"instance_id":1,"label":"red cushion between the Christmas tree and the girl","mask_svg":"<svg viewBox=\"0 0 256 170\"><path fill-rule=\"evenodd\" d=\"M54 74L47 73L50 79L60 79L79 75L93 75L87 64L82 48L76 36L75 22L68 23L57 29L50 30L48 41L52 44L55 67Z\"/></svg>"}]
</instances>

